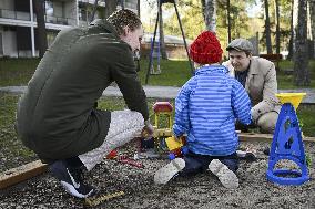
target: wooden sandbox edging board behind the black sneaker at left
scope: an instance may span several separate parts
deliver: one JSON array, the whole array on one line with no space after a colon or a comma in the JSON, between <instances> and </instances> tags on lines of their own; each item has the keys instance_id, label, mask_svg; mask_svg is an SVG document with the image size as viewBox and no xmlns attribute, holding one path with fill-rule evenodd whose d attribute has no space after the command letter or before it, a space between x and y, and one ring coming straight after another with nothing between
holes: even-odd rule
<instances>
[{"instance_id":1,"label":"wooden sandbox edging board behind the black sneaker at left","mask_svg":"<svg viewBox=\"0 0 315 209\"><path fill-rule=\"evenodd\" d=\"M16 185L23 180L38 176L47 170L47 164L35 160L0 174L0 189Z\"/></svg>"}]
</instances>

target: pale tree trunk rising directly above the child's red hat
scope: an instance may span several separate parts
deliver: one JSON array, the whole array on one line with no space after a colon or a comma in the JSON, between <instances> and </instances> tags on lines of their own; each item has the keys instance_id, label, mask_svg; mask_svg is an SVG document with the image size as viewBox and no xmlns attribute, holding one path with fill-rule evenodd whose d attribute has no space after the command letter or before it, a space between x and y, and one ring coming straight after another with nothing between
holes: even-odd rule
<instances>
[{"instance_id":1,"label":"pale tree trunk rising directly above the child's red hat","mask_svg":"<svg viewBox=\"0 0 315 209\"><path fill-rule=\"evenodd\" d=\"M215 0L204 0L204 22L209 31L215 32L216 7Z\"/></svg>"}]
</instances>

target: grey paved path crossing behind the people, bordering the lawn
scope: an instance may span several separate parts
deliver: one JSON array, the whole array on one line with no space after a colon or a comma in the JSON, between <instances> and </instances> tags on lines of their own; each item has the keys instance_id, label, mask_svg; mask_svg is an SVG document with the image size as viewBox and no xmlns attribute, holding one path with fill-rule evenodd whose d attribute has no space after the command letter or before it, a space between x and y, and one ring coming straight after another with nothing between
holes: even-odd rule
<instances>
[{"instance_id":1,"label":"grey paved path crossing behind the people, bordering the lawn","mask_svg":"<svg viewBox=\"0 0 315 209\"><path fill-rule=\"evenodd\" d=\"M7 86L0 87L0 92L10 92L21 94L26 91L26 86ZM153 98L175 98L180 87L172 86L143 86L148 97ZM303 104L315 104L315 90L313 88L299 88L299 90L278 90L278 92L306 92L306 96L303 98ZM103 96L122 96L119 87L109 86L104 92Z\"/></svg>"}]
</instances>

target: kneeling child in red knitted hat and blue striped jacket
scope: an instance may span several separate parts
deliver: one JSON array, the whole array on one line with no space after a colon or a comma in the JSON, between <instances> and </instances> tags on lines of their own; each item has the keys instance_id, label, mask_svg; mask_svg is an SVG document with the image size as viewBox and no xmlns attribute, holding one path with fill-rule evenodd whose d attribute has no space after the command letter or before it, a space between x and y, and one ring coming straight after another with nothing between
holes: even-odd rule
<instances>
[{"instance_id":1,"label":"kneeling child in red knitted hat and blue striped jacket","mask_svg":"<svg viewBox=\"0 0 315 209\"><path fill-rule=\"evenodd\" d=\"M195 75L175 100L174 136L186 135L189 153L175 158L154 175L155 184L210 169L226 188L237 188L235 119L251 124L251 102L242 84L220 65L222 49L216 36L205 31L190 48Z\"/></svg>"}]
</instances>

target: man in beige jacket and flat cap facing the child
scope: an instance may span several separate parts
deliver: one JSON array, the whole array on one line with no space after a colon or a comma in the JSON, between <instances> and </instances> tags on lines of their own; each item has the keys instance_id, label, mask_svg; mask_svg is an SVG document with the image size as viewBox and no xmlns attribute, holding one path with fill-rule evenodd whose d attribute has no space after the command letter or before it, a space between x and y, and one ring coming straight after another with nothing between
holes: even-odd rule
<instances>
[{"instance_id":1,"label":"man in beige jacket and flat cap facing the child","mask_svg":"<svg viewBox=\"0 0 315 209\"><path fill-rule=\"evenodd\" d=\"M252 56L253 45L245 39L235 39L226 48L230 60L223 65L246 90L252 101L253 125L262 133L273 133L281 105L275 94L275 65L268 60Z\"/></svg>"}]
</instances>

